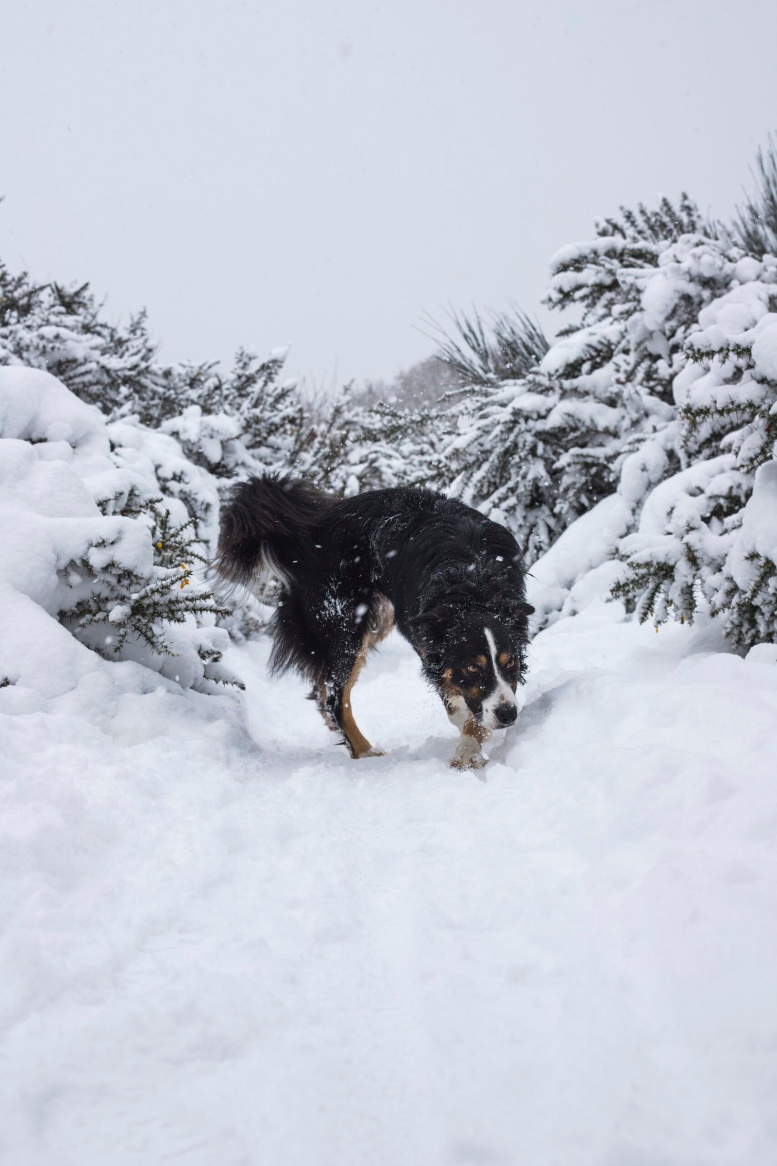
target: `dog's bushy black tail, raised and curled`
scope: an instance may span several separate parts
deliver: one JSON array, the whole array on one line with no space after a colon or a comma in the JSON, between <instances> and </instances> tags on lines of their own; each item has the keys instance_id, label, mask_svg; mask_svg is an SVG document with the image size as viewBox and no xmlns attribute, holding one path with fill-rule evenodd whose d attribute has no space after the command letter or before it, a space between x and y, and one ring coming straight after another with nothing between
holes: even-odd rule
<instances>
[{"instance_id":1,"label":"dog's bushy black tail, raised and curled","mask_svg":"<svg viewBox=\"0 0 777 1166\"><path fill-rule=\"evenodd\" d=\"M313 528L334 499L302 478L263 473L241 482L221 512L216 571L232 586L262 571L289 582L313 556Z\"/></svg>"}]
</instances>

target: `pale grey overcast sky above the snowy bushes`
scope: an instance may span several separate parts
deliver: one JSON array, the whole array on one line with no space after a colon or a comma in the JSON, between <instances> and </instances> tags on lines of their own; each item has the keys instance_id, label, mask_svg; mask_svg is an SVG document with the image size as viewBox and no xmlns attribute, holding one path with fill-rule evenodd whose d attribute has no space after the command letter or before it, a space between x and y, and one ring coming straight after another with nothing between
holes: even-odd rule
<instances>
[{"instance_id":1,"label":"pale grey overcast sky above the snowy bushes","mask_svg":"<svg viewBox=\"0 0 777 1166\"><path fill-rule=\"evenodd\" d=\"M620 203L728 213L776 45L774 0L0 0L0 254L170 359L390 377Z\"/></svg>"}]
</instances>

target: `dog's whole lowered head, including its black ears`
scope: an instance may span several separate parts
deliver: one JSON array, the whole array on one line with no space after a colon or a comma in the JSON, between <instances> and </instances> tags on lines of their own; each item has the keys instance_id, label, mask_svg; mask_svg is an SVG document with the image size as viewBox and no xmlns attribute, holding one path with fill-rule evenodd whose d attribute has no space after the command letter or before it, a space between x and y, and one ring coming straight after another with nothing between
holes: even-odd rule
<instances>
[{"instance_id":1,"label":"dog's whole lowered head, including its black ears","mask_svg":"<svg viewBox=\"0 0 777 1166\"><path fill-rule=\"evenodd\" d=\"M430 644L425 670L450 711L464 711L486 729L507 729L518 715L515 690L523 682L525 616L510 624L485 614L448 626Z\"/></svg>"}]
</instances>

